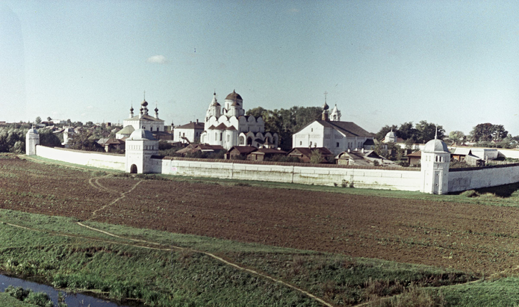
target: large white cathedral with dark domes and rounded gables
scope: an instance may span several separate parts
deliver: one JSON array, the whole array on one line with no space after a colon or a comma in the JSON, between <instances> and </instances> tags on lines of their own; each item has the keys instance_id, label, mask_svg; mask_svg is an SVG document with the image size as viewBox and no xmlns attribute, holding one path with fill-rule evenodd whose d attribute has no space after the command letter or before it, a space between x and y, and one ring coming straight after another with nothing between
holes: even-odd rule
<instances>
[{"instance_id":1,"label":"large white cathedral with dark domes and rounded gables","mask_svg":"<svg viewBox=\"0 0 519 307\"><path fill-rule=\"evenodd\" d=\"M277 133L265 132L263 118L245 115L243 99L236 91L225 97L223 107L218 103L216 93L213 93L200 143L221 145L225 149L233 146L276 148L278 141Z\"/></svg>"}]
</instances>

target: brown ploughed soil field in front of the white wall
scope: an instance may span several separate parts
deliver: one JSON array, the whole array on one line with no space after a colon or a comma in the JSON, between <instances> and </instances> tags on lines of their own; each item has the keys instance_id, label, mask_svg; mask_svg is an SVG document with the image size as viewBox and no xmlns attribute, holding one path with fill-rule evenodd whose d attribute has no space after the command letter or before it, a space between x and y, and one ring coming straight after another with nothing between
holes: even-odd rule
<instances>
[{"instance_id":1,"label":"brown ploughed soil field in front of the white wall","mask_svg":"<svg viewBox=\"0 0 519 307\"><path fill-rule=\"evenodd\" d=\"M102 177L9 158L0 208L475 274L519 261L517 207Z\"/></svg>"}]
</instances>

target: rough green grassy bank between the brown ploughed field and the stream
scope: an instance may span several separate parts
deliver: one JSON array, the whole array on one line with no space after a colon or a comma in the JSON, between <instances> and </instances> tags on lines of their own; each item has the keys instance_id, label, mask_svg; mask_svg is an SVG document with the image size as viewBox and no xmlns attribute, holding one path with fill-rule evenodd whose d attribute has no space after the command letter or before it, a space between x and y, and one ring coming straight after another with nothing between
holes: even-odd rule
<instances>
[{"instance_id":1,"label":"rough green grassy bank between the brown ploughed field and the stream","mask_svg":"<svg viewBox=\"0 0 519 307\"><path fill-rule=\"evenodd\" d=\"M440 286L472 279L461 272L414 264L85 222L160 245L138 244L188 248L145 249L65 217L0 210L0 221L0 270L37 276L55 287L157 306L321 305L299 291L228 266L204 252L293 284L335 305L398 294L411 284Z\"/></svg>"}]
</instances>

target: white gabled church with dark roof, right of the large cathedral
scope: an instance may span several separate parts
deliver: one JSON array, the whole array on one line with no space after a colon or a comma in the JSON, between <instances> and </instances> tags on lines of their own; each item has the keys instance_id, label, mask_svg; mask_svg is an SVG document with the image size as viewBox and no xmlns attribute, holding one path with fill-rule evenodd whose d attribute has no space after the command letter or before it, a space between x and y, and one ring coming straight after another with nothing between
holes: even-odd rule
<instances>
[{"instance_id":1,"label":"white gabled church with dark roof, right of the large cathedral","mask_svg":"<svg viewBox=\"0 0 519 307\"><path fill-rule=\"evenodd\" d=\"M322 106L321 120L314 120L292 135L292 148L326 147L334 156L349 150L371 150L375 143L373 133L350 121L340 121L337 105L329 113L329 106Z\"/></svg>"}]
</instances>

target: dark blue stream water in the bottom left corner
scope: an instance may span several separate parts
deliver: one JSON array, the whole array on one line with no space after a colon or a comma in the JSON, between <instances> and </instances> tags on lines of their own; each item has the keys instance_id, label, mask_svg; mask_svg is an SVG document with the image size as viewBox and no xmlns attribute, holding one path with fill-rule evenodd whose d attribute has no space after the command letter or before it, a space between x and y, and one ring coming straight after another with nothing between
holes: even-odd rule
<instances>
[{"instance_id":1,"label":"dark blue stream water in the bottom left corner","mask_svg":"<svg viewBox=\"0 0 519 307\"><path fill-rule=\"evenodd\" d=\"M95 297L91 297L84 294L74 294L64 291L58 291L50 286L38 284L35 282L29 282L22 280L16 277L9 277L6 275L0 274L0 292L4 292L8 286L13 287L22 287L24 289L32 289L34 292L45 292L52 302L54 306L58 305L58 292L61 292L62 295L66 295L65 303L69 305L69 307L76 306L84 306L84 307L128 307L124 305L118 305L113 302L108 302L102 299L98 299Z\"/></svg>"}]
</instances>

